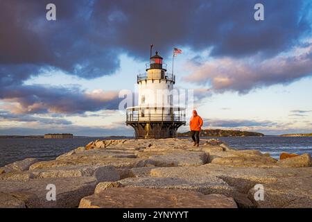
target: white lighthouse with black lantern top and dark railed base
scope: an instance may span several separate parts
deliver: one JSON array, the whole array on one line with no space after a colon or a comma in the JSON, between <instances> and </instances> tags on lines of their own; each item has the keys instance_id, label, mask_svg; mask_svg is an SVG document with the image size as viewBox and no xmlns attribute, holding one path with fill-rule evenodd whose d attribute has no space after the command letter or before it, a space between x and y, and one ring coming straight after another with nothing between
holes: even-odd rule
<instances>
[{"instance_id":1,"label":"white lighthouse with black lantern top and dark railed base","mask_svg":"<svg viewBox=\"0 0 312 222\"><path fill-rule=\"evenodd\" d=\"M177 128L186 123L185 108L173 105L175 75L167 72L157 51L151 54L146 73L137 75L138 105L126 109L125 123L135 129L137 139L176 137Z\"/></svg>"}]
</instances>

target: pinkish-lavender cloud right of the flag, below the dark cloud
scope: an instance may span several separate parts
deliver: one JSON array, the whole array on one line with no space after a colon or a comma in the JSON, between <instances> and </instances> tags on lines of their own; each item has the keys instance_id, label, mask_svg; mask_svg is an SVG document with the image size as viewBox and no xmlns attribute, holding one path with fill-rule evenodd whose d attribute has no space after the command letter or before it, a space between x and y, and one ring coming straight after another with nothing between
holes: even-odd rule
<instances>
[{"instance_id":1,"label":"pinkish-lavender cloud right of the flag, below the dark cloud","mask_svg":"<svg viewBox=\"0 0 312 222\"><path fill-rule=\"evenodd\" d=\"M294 56L276 56L261 60L218 58L198 66L189 62L192 73L185 81L209 85L213 92L236 91L247 93L251 89L275 84L287 84L312 75L312 49Z\"/></svg>"}]
</instances>

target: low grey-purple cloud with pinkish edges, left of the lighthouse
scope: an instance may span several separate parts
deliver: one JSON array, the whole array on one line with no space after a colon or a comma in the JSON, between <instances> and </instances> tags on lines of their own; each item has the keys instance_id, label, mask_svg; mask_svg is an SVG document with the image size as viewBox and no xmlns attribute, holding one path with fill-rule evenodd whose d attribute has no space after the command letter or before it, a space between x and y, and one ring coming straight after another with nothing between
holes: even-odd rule
<instances>
[{"instance_id":1,"label":"low grey-purple cloud with pinkish edges, left of the lighthouse","mask_svg":"<svg viewBox=\"0 0 312 222\"><path fill-rule=\"evenodd\" d=\"M118 92L85 92L79 87L45 87L42 85L14 85L0 88L2 109L12 113L83 114L87 111L118 110Z\"/></svg>"}]
</instances>

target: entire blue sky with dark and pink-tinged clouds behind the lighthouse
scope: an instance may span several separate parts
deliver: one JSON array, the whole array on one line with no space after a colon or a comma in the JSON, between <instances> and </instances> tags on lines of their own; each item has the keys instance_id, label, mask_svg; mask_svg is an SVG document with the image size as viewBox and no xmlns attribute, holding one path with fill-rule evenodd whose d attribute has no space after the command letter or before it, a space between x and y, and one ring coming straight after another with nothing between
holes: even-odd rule
<instances>
[{"instance_id":1,"label":"entire blue sky with dark and pink-tinged clouds behind the lighthouse","mask_svg":"<svg viewBox=\"0 0 312 222\"><path fill-rule=\"evenodd\" d=\"M203 128L311 133L311 31L310 0L2 0L0 135L134 135L119 92L150 44L168 72L182 49L175 88L193 90Z\"/></svg>"}]
</instances>

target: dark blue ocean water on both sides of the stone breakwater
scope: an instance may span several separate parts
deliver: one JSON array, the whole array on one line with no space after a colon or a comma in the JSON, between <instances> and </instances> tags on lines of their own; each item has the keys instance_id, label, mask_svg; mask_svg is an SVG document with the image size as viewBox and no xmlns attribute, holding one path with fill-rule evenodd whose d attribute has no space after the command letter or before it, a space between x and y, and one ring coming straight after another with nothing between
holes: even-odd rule
<instances>
[{"instance_id":1,"label":"dark blue ocean water on both sides of the stone breakwater","mask_svg":"<svg viewBox=\"0 0 312 222\"><path fill-rule=\"evenodd\" d=\"M202 137L201 139L207 138L220 139L237 149L256 149L262 153L270 153L275 158L278 158L281 152L312 155L312 137ZM0 139L0 167L27 157L53 160L62 153L78 146L85 146L96 139L103 138Z\"/></svg>"}]
</instances>

